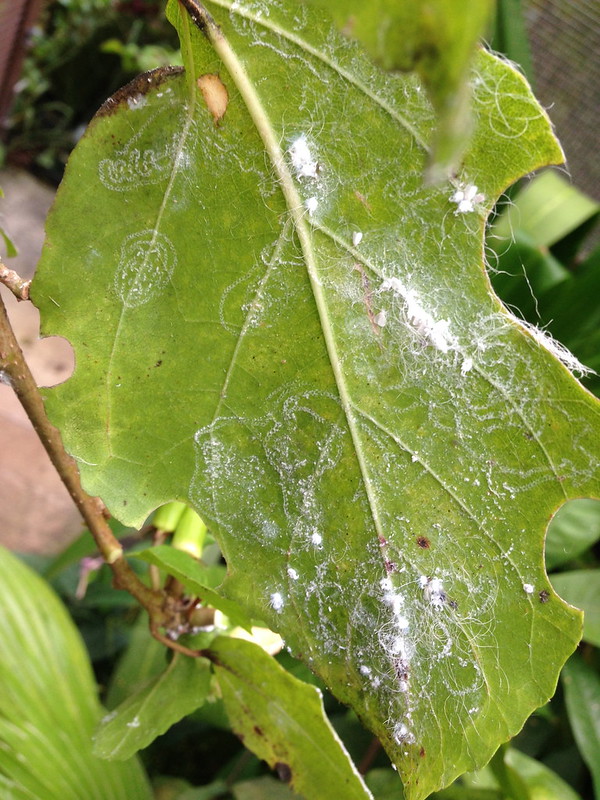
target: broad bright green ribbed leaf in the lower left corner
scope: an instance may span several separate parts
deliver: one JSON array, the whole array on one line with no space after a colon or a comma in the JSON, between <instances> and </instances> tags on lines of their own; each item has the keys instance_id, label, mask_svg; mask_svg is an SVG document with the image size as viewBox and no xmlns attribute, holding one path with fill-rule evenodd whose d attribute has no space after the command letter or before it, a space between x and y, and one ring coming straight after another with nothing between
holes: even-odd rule
<instances>
[{"instance_id":1,"label":"broad bright green ribbed leaf in the lower left corner","mask_svg":"<svg viewBox=\"0 0 600 800\"><path fill-rule=\"evenodd\" d=\"M39 800L150 800L136 760L92 754L102 716L77 629L50 587L0 550L0 793Z\"/></svg>"}]
</instances>

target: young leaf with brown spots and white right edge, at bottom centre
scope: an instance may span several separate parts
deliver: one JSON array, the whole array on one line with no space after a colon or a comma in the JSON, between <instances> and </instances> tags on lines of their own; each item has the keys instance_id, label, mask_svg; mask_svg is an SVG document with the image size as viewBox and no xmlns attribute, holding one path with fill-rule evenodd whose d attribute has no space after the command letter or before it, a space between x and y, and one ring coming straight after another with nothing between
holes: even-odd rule
<instances>
[{"instance_id":1,"label":"young leaf with brown spots and white right edge, at bottom centre","mask_svg":"<svg viewBox=\"0 0 600 800\"><path fill-rule=\"evenodd\" d=\"M250 750L304 797L372 797L331 727L316 686L250 642L221 636L209 648L227 716Z\"/></svg>"}]
</instances>

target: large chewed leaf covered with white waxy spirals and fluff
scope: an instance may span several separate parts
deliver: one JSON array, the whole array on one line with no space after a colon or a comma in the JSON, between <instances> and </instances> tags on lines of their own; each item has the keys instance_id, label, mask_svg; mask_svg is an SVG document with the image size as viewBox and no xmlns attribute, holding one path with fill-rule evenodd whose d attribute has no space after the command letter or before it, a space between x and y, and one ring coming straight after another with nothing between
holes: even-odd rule
<instances>
[{"instance_id":1,"label":"large chewed leaf covered with white waxy spirals and fluff","mask_svg":"<svg viewBox=\"0 0 600 800\"><path fill-rule=\"evenodd\" d=\"M173 4L187 76L135 81L69 164L34 295L77 368L48 409L121 519L194 506L223 590L355 708L415 800L487 763L580 637L543 540L600 493L598 403L482 263L500 192L561 151L480 53L471 149L425 188L414 79L295 4L210 8L216 50Z\"/></svg>"}]
</instances>

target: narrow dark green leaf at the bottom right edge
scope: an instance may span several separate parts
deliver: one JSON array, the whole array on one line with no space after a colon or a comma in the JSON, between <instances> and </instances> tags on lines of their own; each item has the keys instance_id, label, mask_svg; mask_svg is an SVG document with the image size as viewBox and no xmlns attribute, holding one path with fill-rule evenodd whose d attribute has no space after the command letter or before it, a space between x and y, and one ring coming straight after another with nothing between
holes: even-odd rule
<instances>
[{"instance_id":1,"label":"narrow dark green leaf at the bottom right edge","mask_svg":"<svg viewBox=\"0 0 600 800\"><path fill-rule=\"evenodd\" d=\"M600 677L578 655L572 656L562 671L569 722L594 781L595 797L600 797Z\"/></svg>"}]
</instances>

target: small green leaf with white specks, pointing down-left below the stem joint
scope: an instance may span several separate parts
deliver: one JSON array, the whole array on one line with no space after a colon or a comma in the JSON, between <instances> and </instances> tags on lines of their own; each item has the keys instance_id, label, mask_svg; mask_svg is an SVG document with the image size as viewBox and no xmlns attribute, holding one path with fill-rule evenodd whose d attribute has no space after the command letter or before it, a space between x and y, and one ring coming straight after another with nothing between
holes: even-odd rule
<instances>
[{"instance_id":1,"label":"small green leaf with white specks, pointing down-left below the stem joint","mask_svg":"<svg viewBox=\"0 0 600 800\"><path fill-rule=\"evenodd\" d=\"M94 754L122 761L147 747L204 703L210 680L208 661L175 653L164 672L102 719Z\"/></svg>"}]
</instances>

